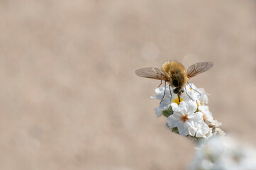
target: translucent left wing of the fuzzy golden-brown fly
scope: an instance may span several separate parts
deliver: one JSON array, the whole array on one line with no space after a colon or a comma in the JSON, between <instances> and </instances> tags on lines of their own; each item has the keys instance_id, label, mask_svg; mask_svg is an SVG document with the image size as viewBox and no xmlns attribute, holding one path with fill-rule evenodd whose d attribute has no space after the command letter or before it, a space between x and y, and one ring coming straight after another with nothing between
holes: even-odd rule
<instances>
[{"instance_id":1,"label":"translucent left wing of the fuzzy golden-brown fly","mask_svg":"<svg viewBox=\"0 0 256 170\"><path fill-rule=\"evenodd\" d=\"M135 74L137 74L139 77L146 77L150 79L160 79L160 80L166 79L165 73L162 72L162 69L157 69L153 67L137 69L135 71Z\"/></svg>"}]
</instances>

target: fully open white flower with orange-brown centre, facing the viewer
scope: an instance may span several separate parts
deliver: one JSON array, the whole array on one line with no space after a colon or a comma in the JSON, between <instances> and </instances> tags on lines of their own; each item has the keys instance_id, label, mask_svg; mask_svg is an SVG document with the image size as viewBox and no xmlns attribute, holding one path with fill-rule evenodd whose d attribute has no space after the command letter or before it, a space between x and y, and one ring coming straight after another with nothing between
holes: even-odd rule
<instances>
[{"instance_id":1,"label":"fully open white flower with orange-brown centre, facing the viewer","mask_svg":"<svg viewBox=\"0 0 256 170\"><path fill-rule=\"evenodd\" d=\"M197 108L195 101L172 103L173 114L167 118L169 128L177 127L179 134L183 136L191 135L205 137L209 128L201 115L194 113Z\"/></svg>"}]
</instances>

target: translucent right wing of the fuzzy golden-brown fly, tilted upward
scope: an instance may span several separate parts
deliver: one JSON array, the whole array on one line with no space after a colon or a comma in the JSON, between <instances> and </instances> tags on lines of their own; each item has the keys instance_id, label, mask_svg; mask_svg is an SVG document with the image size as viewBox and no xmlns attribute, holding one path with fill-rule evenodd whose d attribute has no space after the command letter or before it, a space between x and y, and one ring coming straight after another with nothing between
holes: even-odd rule
<instances>
[{"instance_id":1,"label":"translucent right wing of the fuzzy golden-brown fly, tilted upward","mask_svg":"<svg viewBox=\"0 0 256 170\"><path fill-rule=\"evenodd\" d=\"M208 69L211 69L211 67L213 67L213 62L199 62L193 64L189 67L189 69L187 69L187 77L194 77L197 74L206 72Z\"/></svg>"}]
</instances>

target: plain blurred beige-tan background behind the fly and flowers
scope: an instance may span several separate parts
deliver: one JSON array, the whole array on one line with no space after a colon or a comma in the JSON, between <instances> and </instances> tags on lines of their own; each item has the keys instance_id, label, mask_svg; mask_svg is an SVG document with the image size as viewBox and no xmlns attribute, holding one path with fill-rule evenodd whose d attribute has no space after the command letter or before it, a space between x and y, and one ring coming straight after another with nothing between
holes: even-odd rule
<instances>
[{"instance_id":1,"label":"plain blurred beige-tan background behind the fly and flowers","mask_svg":"<svg viewBox=\"0 0 256 170\"><path fill-rule=\"evenodd\" d=\"M214 67L223 130L256 142L256 1L0 1L0 169L187 169L194 144L156 118L135 69Z\"/></svg>"}]
</instances>

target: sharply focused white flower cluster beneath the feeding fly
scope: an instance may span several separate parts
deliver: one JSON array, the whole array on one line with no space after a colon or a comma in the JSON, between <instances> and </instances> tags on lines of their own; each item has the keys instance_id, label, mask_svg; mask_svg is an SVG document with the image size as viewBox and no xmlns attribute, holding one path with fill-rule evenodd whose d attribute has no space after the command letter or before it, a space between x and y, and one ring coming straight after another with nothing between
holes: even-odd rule
<instances>
[{"instance_id":1,"label":"sharply focused white flower cluster beneath the feeding fly","mask_svg":"<svg viewBox=\"0 0 256 170\"><path fill-rule=\"evenodd\" d=\"M204 89L198 89L194 84L187 84L184 88L184 93L179 98L173 93L172 87L166 86L155 89L158 100L163 98L160 106L155 108L157 118L161 115L167 117L167 126L172 128L173 132L179 135L195 138L208 138L213 135L224 135L224 132L219 128L221 123L213 119L212 113L209 111L208 96ZM172 100L171 94L172 93Z\"/></svg>"}]
</instances>

